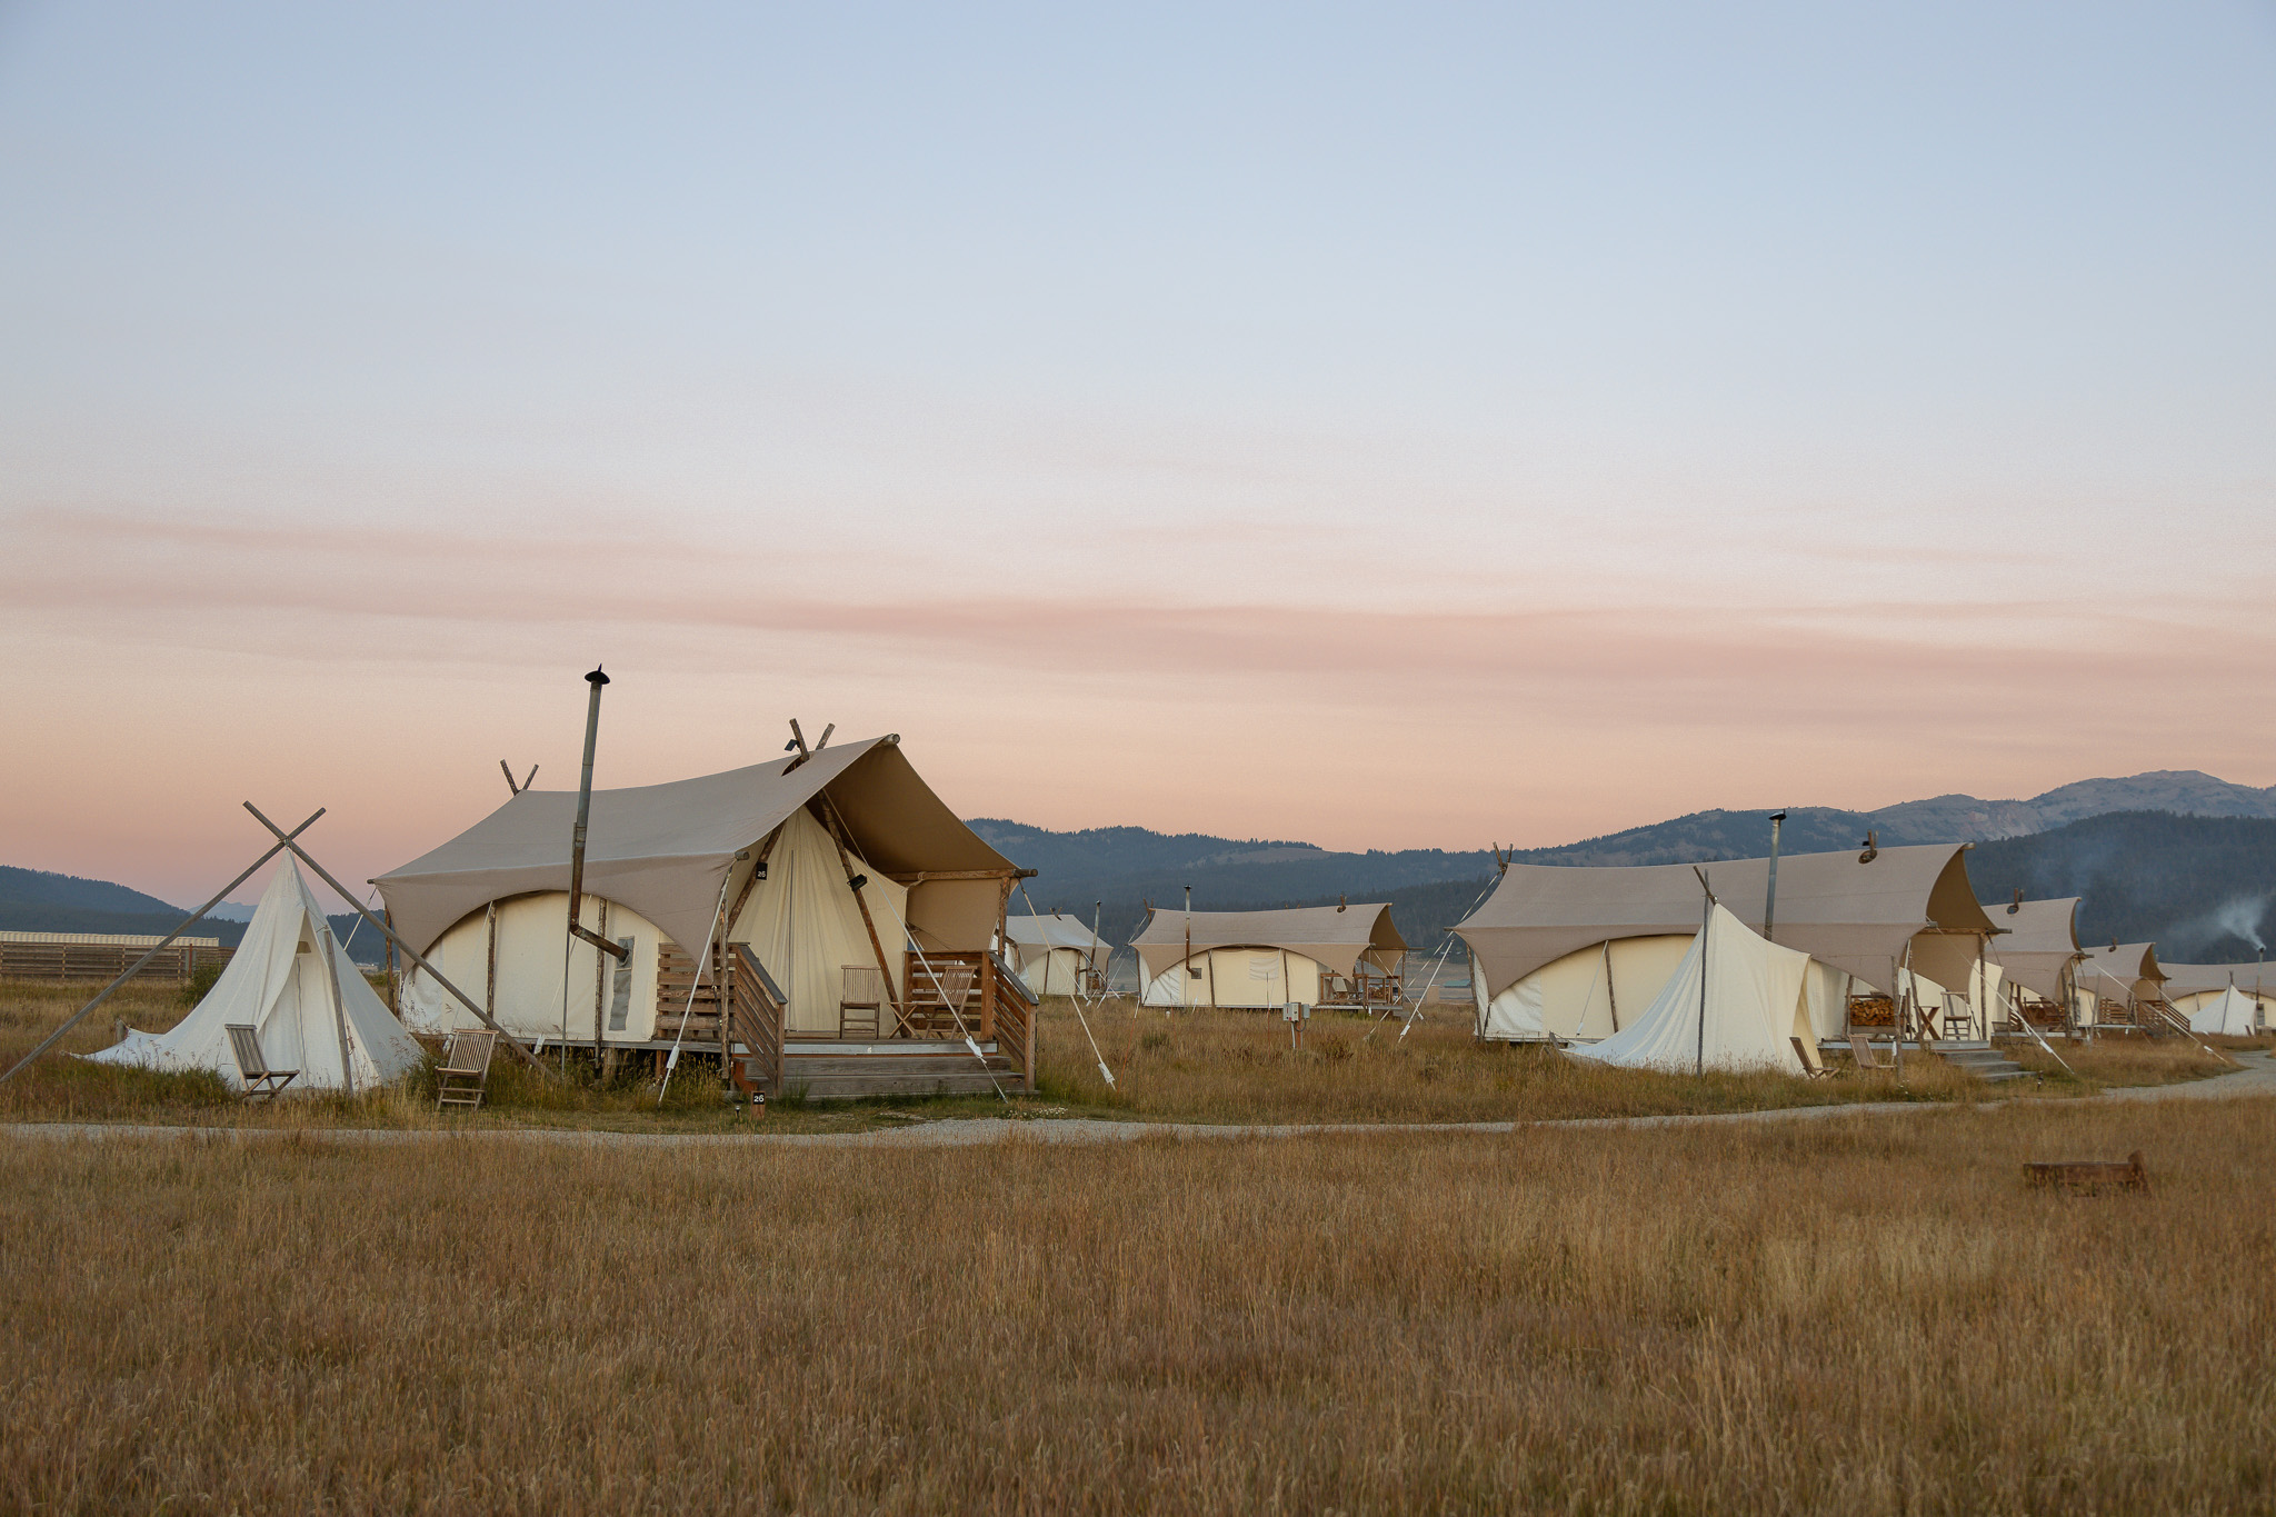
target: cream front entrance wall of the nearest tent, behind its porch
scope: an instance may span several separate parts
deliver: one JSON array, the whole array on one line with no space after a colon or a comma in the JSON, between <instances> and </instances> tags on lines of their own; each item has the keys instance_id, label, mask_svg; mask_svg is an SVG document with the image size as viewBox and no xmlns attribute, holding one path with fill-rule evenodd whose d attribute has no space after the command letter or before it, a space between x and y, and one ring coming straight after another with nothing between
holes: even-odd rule
<instances>
[{"instance_id":1,"label":"cream front entrance wall of the nearest tent, behind its porch","mask_svg":"<svg viewBox=\"0 0 2276 1517\"><path fill-rule=\"evenodd\" d=\"M849 853L849 857L853 873L869 876L863 896L869 901L869 921L876 926L876 942L885 948L885 967L892 971L894 996L899 996L908 978L904 962L908 942L901 935L901 923L908 914L910 892L869 869L858 853ZM945 885L963 885L963 880L945 880ZM990 889L995 889L992 882ZM922 923L917 928L920 942L931 948ZM988 930L995 930L992 919ZM751 944L751 953L790 996L785 1023L790 1033L838 1033L842 971L847 964L874 969L876 948L863 926L860 905L847 889L838 846L806 810L792 812L790 821L783 823L783 835L774 839L774 853L767 855L767 878L751 889L728 942ZM986 935L981 942L988 942Z\"/></svg>"}]
</instances>

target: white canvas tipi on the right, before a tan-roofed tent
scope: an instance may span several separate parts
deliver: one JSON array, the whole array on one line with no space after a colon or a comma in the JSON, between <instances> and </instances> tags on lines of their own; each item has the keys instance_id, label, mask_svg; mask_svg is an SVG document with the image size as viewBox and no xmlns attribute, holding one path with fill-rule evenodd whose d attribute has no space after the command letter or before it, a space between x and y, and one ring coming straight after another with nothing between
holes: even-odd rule
<instances>
[{"instance_id":1,"label":"white canvas tipi on the right, before a tan-roofed tent","mask_svg":"<svg viewBox=\"0 0 2276 1517\"><path fill-rule=\"evenodd\" d=\"M1675 973L1643 1014L1600 1044L1568 1048L1573 1058L1623 1069L1780 1069L1800 1073L1793 1039L1809 1030L1805 980L1809 955L1764 942L1716 905L1707 930L1691 937Z\"/></svg>"}]
</instances>

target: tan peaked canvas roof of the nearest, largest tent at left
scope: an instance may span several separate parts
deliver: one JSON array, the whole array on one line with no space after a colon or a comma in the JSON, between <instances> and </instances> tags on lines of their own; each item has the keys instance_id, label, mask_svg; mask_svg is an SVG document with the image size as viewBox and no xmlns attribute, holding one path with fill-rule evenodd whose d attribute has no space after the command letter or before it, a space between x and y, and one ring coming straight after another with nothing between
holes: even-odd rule
<instances>
[{"instance_id":1,"label":"tan peaked canvas roof of the nearest, largest tent at left","mask_svg":"<svg viewBox=\"0 0 2276 1517\"><path fill-rule=\"evenodd\" d=\"M1011 860L942 805L899 741L867 737L822 748L803 764L769 760L667 785L596 789L585 887L694 951L710 935L735 855L824 789L869 867L904 885L924 873L1013 873ZM426 951L489 901L569 889L574 823L574 789L526 789L373 885L396 930Z\"/></svg>"}]
</instances>

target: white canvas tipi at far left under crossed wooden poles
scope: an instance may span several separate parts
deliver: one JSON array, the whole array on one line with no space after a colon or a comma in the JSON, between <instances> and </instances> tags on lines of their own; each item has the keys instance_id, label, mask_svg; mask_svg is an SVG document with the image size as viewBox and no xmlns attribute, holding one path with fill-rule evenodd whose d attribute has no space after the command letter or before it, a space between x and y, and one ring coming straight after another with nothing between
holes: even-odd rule
<instances>
[{"instance_id":1,"label":"white canvas tipi at far left under crossed wooden poles","mask_svg":"<svg viewBox=\"0 0 2276 1517\"><path fill-rule=\"evenodd\" d=\"M287 862L269 880L228 969L171 1033L127 1033L89 1058L148 1069L212 1069L239 1085L230 1026L259 1033L271 1069L298 1069L289 1089L369 1089L421 1060L419 1044L332 942L323 907Z\"/></svg>"}]
</instances>

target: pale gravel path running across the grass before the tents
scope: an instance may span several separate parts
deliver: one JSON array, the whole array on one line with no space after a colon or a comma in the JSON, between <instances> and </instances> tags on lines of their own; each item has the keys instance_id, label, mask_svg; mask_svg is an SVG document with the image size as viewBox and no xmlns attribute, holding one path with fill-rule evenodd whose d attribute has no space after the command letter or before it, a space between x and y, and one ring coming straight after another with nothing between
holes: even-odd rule
<instances>
[{"instance_id":1,"label":"pale gravel path running across the grass before the tents","mask_svg":"<svg viewBox=\"0 0 2276 1517\"><path fill-rule=\"evenodd\" d=\"M2183 1085L2130 1085L2108 1089L2098 1101L2226 1101L2237 1096L2276 1096L2276 1060L2269 1053L2237 1055L2244 1069L2187 1080ZM1006 1139L1040 1144L1129 1144L1145 1137L1316 1137L1345 1133L1516 1133L1520 1128L1698 1128L1727 1121L1828 1121L1889 1112L1946 1112L1948 1103L1862 1101L1846 1105L1787 1105L1768 1112L1709 1112L1682 1117L1573 1117L1561 1121L1318 1121L1279 1126L1193 1124L1193 1121L1097 1121L976 1117L958 1121L917 1121L879 1133L594 1133L580 1128L159 1128L105 1121L11 1121L0 1124L7 1137L34 1139L259 1139L284 1133L321 1137L341 1144L423 1144L448 1142L519 1142L610 1149L963 1149Z\"/></svg>"}]
</instances>

